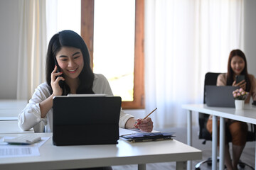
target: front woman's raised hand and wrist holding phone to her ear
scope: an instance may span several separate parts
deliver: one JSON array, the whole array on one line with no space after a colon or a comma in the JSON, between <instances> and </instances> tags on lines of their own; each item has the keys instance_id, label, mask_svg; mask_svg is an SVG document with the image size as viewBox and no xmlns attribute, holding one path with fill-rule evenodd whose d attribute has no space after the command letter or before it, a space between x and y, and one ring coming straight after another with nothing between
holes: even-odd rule
<instances>
[{"instance_id":1,"label":"front woman's raised hand and wrist holding phone to her ear","mask_svg":"<svg viewBox=\"0 0 256 170\"><path fill-rule=\"evenodd\" d=\"M50 85L53 89L53 96L61 96L63 94L63 89L60 88L59 81L65 81L63 77L60 75L63 74L62 72L57 72L57 66L54 67L53 72L51 73L51 81Z\"/></svg>"}]
</instances>

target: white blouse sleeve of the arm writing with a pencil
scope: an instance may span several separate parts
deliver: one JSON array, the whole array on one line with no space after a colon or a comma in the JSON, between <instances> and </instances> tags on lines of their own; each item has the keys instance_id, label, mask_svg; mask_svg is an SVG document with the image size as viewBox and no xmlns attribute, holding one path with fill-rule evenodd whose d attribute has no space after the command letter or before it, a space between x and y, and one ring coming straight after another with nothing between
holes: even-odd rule
<instances>
[{"instance_id":1,"label":"white blouse sleeve of the arm writing with a pencil","mask_svg":"<svg viewBox=\"0 0 256 170\"><path fill-rule=\"evenodd\" d=\"M95 94L107 94L108 96L113 96L110 84L107 81L107 78L102 74L95 74L95 81L93 83L92 90L95 92ZM129 118L134 118L134 116L124 113L121 108L119 127L124 128Z\"/></svg>"}]
</instances>

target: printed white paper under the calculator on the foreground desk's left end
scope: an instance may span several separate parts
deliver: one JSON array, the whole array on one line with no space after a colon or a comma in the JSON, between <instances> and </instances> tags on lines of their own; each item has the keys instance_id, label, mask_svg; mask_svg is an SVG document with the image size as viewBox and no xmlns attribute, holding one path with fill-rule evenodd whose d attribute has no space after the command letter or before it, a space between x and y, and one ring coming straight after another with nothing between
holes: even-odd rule
<instances>
[{"instance_id":1,"label":"printed white paper under the calculator on the foreground desk's left end","mask_svg":"<svg viewBox=\"0 0 256 170\"><path fill-rule=\"evenodd\" d=\"M6 142L1 142L0 158L39 156L39 147L41 147L41 145L43 145L49 138L50 137L42 137L40 142L36 142L32 145L9 145ZM1 141L3 141L3 139L1 139Z\"/></svg>"}]
</instances>

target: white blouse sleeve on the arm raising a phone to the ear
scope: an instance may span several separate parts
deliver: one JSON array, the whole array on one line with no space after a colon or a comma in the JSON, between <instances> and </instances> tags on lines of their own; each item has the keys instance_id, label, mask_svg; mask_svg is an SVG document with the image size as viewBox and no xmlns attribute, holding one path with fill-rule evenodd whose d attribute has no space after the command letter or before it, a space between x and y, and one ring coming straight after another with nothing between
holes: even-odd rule
<instances>
[{"instance_id":1,"label":"white blouse sleeve on the arm raising a phone to the ear","mask_svg":"<svg viewBox=\"0 0 256 170\"><path fill-rule=\"evenodd\" d=\"M26 105L26 108L18 114L18 127L21 130L30 130L33 128L35 132L43 132L47 120L46 118L41 118L39 103L46 100L48 96L50 96L48 85L46 83L39 85Z\"/></svg>"}]
</instances>

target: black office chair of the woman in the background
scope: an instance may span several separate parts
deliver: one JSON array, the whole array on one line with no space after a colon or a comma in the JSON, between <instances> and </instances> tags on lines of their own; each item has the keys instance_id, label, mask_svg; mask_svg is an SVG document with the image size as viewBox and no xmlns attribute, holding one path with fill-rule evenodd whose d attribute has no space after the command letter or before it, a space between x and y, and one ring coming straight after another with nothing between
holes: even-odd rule
<instances>
[{"instance_id":1,"label":"black office chair of the woman in the background","mask_svg":"<svg viewBox=\"0 0 256 170\"><path fill-rule=\"evenodd\" d=\"M206 73L205 81L204 81L204 90L203 90L203 103L206 103L206 85L216 85L217 78L218 78L219 74L220 73L214 73L214 72ZM199 113L198 117L199 117L198 118L198 120L199 120L199 136L198 136L198 138L203 140L202 144L205 145L207 140L209 140L209 141L212 140L212 135L210 134L210 132L208 132L208 130L206 128L206 124L207 124L209 115L204 114L204 113ZM228 136L228 139L231 138L228 128L225 128L225 134ZM255 125L252 125L252 124L250 124L250 129L247 132L247 142L249 142L249 141L255 141ZM220 160L219 157L217 157L217 162L219 162L219 160ZM200 170L200 166L205 163L208 164L208 166L211 166L212 159L208 158L206 160L198 162L198 164L196 164L196 166L195 166L196 170ZM245 168L245 166L248 166L248 167L250 167L250 169L254 169L249 164L245 164L244 162L241 162L241 161L238 163L238 166L240 166L241 168Z\"/></svg>"}]
</instances>

